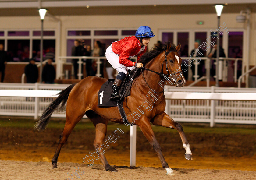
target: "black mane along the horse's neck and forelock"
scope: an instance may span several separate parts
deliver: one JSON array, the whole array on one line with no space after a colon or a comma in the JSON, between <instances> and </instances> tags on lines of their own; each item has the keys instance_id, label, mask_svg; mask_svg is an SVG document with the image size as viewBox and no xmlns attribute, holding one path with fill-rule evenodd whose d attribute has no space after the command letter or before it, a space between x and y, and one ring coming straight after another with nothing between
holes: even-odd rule
<instances>
[{"instance_id":1,"label":"black mane along the horse's neck and forelock","mask_svg":"<svg viewBox=\"0 0 256 180\"><path fill-rule=\"evenodd\" d=\"M158 56L161 52L165 51L167 48L167 44L155 46L150 51L146 52L144 55L140 57L139 62L141 62L143 65L146 65L151 59ZM169 51L176 51L175 45L171 44Z\"/></svg>"}]
</instances>

